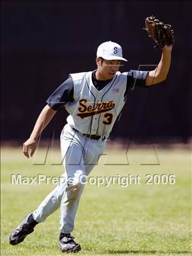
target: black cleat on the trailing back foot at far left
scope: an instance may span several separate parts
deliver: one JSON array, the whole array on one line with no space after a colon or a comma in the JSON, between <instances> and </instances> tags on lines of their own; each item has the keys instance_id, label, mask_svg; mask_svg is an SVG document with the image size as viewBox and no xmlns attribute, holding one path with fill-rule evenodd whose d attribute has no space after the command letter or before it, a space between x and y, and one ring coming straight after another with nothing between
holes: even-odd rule
<instances>
[{"instance_id":1,"label":"black cleat on the trailing back foot at far left","mask_svg":"<svg viewBox=\"0 0 192 256\"><path fill-rule=\"evenodd\" d=\"M31 213L28 214L24 221L12 232L10 235L10 244L15 245L21 243L26 236L33 232L35 226L29 225L29 216L31 216Z\"/></svg>"}]
</instances>

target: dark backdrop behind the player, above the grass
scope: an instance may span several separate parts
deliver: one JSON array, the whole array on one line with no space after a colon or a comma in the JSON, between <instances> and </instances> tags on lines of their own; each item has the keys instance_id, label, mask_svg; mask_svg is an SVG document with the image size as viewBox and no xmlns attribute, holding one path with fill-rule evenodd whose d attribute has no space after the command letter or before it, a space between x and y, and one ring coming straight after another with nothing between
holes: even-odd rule
<instances>
[{"instance_id":1,"label":"dark backdrop behind the player, above the grass","mask_svg":"<svg viewBox=\"0 0 192 256\"><path fill-rule=\"evenodd\" d=\"M157 65L161 51L142 30L155 15L172 24L175 45L166 81L128 94L112 137L178 138L187 143L191 122L191 1L1 1L1 138L26 140L45 100L69 73L95 69L102 42L122 45L127 63ZM143 67L152 70L153 67ZM62 109L45 129L56 138Z\"/></svg>"}]
</instances>

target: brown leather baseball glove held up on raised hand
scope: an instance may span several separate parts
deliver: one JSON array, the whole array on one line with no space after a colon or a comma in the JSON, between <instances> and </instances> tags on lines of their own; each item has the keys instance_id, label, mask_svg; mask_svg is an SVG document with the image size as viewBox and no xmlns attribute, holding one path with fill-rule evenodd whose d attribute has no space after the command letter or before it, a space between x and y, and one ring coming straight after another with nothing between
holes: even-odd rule
<instances>
[{"instance_id":1,"label":"brown leather baseball glove held up on raised hand","mask_svg":"<svg viewBox=\"0 0 192 256\"><path fill-rule=\"evenodd\" d=\"M164 45L172 45L174 43L173 29L171 25L163 24L159 22L154 16L147 17L145 19L145 27L148 36L156 42L157 45L154 47L163 48Z\"/></svg>"}]
</instances>

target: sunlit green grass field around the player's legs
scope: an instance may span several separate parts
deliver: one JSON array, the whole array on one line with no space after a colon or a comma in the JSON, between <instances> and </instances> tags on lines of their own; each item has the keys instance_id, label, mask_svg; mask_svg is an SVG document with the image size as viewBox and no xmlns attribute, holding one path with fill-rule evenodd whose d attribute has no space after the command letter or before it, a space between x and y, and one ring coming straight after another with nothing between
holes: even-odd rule
<instances>
[{"instance_id":1,"label":"sunlit green grass field around the player's legs","mask_svg":"<svg viewBox=\"0 0 192 256\"><path fill-rule=\"evenodd\" d=\"M108 151L95 166L93 176L140 175L141 184L114 184L99 188L87 184L72 233L81 244L77 255L191 255L191 152L157 149ZM38 150L35 163L44 163ZM59 211L17 246L8 242L10 232L28 212L36 209L55 186L11 184L11 174L30 177L38 173L60 176L60 150L48 154L45 165L34 165L20 148L1 150L1 255L63 255L58 250ZM120 164L124 165L120 165ZM145 164L145 165L143 165ZM145 184L147 174L175 174L175 184Z\"/></svg>"}]
</instances>

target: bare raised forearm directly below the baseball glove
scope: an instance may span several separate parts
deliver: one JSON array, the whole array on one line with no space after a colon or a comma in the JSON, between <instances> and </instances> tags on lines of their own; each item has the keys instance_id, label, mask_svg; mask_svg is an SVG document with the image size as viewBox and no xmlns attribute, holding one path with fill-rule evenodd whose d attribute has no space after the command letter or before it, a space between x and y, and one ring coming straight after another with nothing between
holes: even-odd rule
<instances>
[{"instance_id":1,"label":"bare raised forearm directly below the baseball glove","mask_svg":"<svg viewBox=\"0 0 192 256\"><path fill-rule=\"evenodd\" d=\"M170 63L172 58L172 45L165 45L162 49L161 60L156 69L148 72L145 85L161 83L166 79L170 70Z\"/></svg>"}]
</instances>

